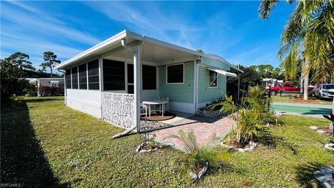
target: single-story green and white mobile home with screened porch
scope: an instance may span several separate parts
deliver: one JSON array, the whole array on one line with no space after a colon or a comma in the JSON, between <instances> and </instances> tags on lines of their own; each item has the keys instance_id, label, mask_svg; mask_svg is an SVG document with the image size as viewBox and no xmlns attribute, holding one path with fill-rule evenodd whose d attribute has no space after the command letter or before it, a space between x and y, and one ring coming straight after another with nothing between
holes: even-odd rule
<instances>
[{"instance_id":1,"label":"single-story green and white mobile home with screened porch","mask_svg":"<svg viewBox=\"0 0 334 188\"><path fill-rule=\"evenodd\" d=\"M139 126L141 102L168 97L168 109L196 113L226 93L234 65L212 54L122 31L56 66L65 104L120 127Z\"/></svg>"}]
</instances>

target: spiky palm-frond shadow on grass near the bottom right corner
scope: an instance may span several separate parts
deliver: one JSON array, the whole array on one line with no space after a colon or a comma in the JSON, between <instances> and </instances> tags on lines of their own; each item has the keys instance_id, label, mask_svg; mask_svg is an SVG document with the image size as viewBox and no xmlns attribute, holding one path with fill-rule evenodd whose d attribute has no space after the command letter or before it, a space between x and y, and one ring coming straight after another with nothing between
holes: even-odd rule
<instances>
[{"instance_id":1,"label":"spiky palm-frond shadow on grass near the bottom right corner","mask_svg":"<svg viewBox=\"0 0 334 188\"><path fill-rule=\"evenodd\" d=\"M324 164L320 164L317 162L301 164L301 166L297 166L296 180L303 187L307 188L314 187L314 185L312 185L312 182L315 182L317 184L317 187L321 187L320 183L317 180L315 180L315 178L313 178L313 173L317 171L321 166L324 166Z\"/></svg>"}]
</instances>

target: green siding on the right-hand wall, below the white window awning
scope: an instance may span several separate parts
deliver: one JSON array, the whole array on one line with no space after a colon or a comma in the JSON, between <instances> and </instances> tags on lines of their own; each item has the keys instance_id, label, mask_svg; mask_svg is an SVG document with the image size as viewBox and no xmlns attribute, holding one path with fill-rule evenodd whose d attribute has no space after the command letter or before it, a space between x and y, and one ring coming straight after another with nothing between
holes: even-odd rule
<instances>
[{"instance_id":1,"label":"green siding on the right-hand wall, below the white window awning","mask_svg":"<svg viewBox=\"0 0 334 188\"><path fill-rule=\"evenodd\" d=\"M218 86L216 88L208 88L209 70L203 66L198 68L198 103L212 102L223 97L226 93L226 76L218 75Z\"/></svg>"}]
</instances>

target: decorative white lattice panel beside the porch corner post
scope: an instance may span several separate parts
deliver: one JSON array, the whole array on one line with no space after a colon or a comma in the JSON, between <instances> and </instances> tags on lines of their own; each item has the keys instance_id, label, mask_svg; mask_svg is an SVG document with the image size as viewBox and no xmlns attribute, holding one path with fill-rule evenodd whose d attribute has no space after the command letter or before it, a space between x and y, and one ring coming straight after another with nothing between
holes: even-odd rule
<instances>
[{"instance_id":1,"label":"decorative white lattice panel beside the porch corner post","mask_svg":"<svg viewBox=\"0 0 334 188\"><path fill-rule=\"evenodd\" d=\"M102 118L113 125L128 129L134 127L134 95L102 93Z\"/></svg>"}]
</instances>

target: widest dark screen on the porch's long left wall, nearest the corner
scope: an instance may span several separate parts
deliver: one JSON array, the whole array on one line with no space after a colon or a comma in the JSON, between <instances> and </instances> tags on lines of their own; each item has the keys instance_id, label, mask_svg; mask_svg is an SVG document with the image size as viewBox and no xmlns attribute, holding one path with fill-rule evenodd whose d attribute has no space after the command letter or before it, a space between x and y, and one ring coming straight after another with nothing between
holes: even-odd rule
<instances>
[{"instance_id":1,"label":"widest dark screen on the porch's long left wall, nearest the corner","mask_svg":"<svg viewBox=\"0 0 334 188\"><path fill-rule=\"evenodd\" d=\"M88 67L88 89L100 90L99 60L90 61Z\"/></svg>"}]
</instances>

